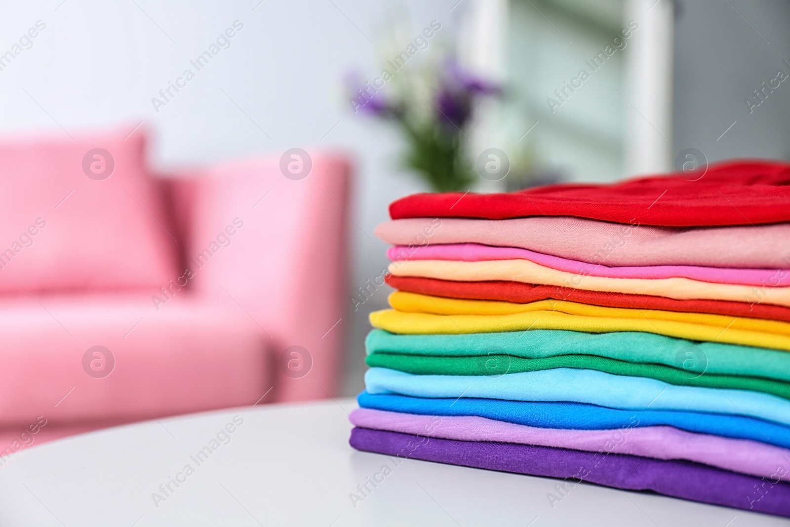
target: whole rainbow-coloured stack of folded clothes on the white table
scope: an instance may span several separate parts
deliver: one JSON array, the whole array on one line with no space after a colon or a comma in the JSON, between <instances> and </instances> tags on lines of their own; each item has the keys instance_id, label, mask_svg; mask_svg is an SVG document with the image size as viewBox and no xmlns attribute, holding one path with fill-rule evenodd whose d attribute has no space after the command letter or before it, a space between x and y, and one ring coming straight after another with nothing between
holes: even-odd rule
<instances>
[{"instance_id":1,"label":"whole rainbow-coloured stack of folded clothes on the white table","mask_svg":"<svg viewBox=\"0 0 790 527\"><path fill-rule=\"evenodd\" d=\"M359 450L790 516L790 165L390 205Z\"/></svg>"}]
</instances>

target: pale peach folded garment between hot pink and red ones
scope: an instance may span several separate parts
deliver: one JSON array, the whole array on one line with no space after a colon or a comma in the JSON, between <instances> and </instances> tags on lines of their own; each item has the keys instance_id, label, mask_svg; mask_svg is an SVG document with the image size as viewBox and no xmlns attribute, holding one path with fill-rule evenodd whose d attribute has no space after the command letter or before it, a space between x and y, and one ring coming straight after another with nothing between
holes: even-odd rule
<instances>
[{"instance_id":1,"label":"pale peach folded garment between hot pink and red ones","mask_svg":"<svg viewBox=\"0 0 790 527\"><path fill-rule=\"evenodd\" d=\"M393 262L389 272L399 277L425 277L439 280L483 281L511 280L526 284L666 296L672 299L732 300L790 307L790 287L758 288L751 285L714 284L690 278L607 278L566 273L538 265L529 260L494 260L458 262L455 260L407 260Z\"/></svg>"}]
</instances>

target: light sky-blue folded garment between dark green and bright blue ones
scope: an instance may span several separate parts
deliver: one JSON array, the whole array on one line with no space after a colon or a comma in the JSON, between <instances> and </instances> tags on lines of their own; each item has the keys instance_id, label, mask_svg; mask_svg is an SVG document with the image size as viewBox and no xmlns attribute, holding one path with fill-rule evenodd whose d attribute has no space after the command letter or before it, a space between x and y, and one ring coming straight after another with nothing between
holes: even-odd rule
<instances>
[{"instance_id":1,"label":"light sky-blue folded garment between dark green and bright blue ones","mask_svg":"<svg viewBox=\"0 0 790 527\"><path fill-rule=\"evenodd\" d=\"M570 401L629 410L680 410L750 416L790 425L790 401L768 393L676 386L653 378L555 368L495 376L412 375L374 367L369 393L412 397L479 397L506 401Z\"/></svg>"}]
</instances>

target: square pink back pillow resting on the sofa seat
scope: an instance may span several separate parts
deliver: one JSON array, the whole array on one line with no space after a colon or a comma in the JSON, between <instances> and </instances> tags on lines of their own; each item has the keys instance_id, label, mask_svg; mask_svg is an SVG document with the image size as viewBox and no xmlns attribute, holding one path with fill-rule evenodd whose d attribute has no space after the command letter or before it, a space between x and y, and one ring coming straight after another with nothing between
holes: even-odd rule
<instances>
[{"instance_id":1,"label":"square pink back pillow resting on the sofa seat","mask_svg":"<svg viewBox=\"0 0 790 527\"><path fill-rule=\"evenodd\" d=\"M126 134L0 141L0 293L150 289L176 276L145 135Z\"/></svg>"}]
</instances>

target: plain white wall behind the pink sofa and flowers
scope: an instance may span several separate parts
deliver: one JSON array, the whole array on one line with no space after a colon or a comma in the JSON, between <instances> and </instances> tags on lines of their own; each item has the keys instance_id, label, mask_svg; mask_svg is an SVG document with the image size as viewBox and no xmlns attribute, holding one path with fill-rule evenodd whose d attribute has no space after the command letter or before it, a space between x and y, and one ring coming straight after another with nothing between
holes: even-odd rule
<instances>
[{"instance_id":1,"label":"plain white wall behind the pink sofa and flowers","mask_svg":"<svg viewBox=\"0 0 790 527\"><path fill-rule=\"evenodd\" d=\"M162 168L277 154L295 146L308 152L344 149L357 162L348 210L359 226L352 224L351 285L356 288L386 265L386 247L373 236L375 225L387 218L386 205L422 187L399 173L397 134L352 114L343 98L344 75L351 70L366 77L378 73L376 53L393 17L411 20L408 39L433 19L442 23L443 36L450 36L464 9L463 4L453 9L456 3L0 2L0 53L36 21L46 24L32 47L0 71L0 134L59 132L61 127L73 133L119 122L131 131L143 120L156 133L152 153ZM151 99L160 88L175 81L190 59L235 20L244 27L231 47L154 111ZM348 393L362 386L367 313L385 303L382 290L349 313Z\"/></svg>"}]
</instances>

